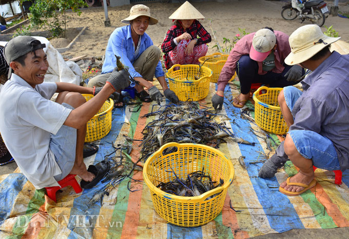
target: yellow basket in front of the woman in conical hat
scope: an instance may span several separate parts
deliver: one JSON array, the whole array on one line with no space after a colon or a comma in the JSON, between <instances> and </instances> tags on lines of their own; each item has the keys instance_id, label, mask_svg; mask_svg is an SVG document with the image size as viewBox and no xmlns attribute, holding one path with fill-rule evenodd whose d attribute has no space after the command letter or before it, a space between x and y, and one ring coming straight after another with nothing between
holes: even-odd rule
<instances>
[{"instance_id":1,"label":"yellow basket in front of the woman in conical hat","mask_svg":"<svg viewBox=\"0 0 349 239\"><path fill-rule=\"evenodd\" d=\"M175 67L179 70L174 71ZM170 90L176 93L180 101L200 101L209 91L209 81L212 71L208 67L201 67L201 77L196 80L199 65L173 65L168 69L166 76Z\"/></svg>"}]
</instances>

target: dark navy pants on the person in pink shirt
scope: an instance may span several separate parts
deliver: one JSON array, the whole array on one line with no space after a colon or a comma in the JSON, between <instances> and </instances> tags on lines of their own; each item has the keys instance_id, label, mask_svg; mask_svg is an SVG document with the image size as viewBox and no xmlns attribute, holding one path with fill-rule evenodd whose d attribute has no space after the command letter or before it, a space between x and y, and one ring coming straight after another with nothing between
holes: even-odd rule
<instances>
[{"instance_id":1,"label":"dark navy pants on the person in pink shirt","mask_svg":"<svg viewBox=\"0 0 349 239\"><path fill-rule=\"evenodd\" d=\"M284 64L285 69L282 73L275 73L272 71L267 72L265 75L258 74L258 63L249 58L248 55L240 57L236 72L240 81L240 91L242 94L247 94L251 89L251 84L262 83L269 84L270 87L285 87L292 86L298 82L286 81L285 74L292 67ZM304 69L302 75L304 74Z\"/></svg>"}]
</instances>

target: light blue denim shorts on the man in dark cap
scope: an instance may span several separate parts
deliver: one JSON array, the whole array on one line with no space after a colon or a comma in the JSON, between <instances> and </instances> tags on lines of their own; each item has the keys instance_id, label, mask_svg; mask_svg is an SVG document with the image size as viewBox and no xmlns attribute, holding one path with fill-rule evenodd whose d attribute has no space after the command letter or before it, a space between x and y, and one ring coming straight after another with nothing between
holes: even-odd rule
<instances>
[{"instance_id":1,"label":"light blue denim shorts on the man in dark cap","mask_svg":"<svg viewBox=\"0 0 349 239\"><path fill-rule=\"evenodd\" d=\"M74 109L63 103L63 106ZM62 173L55 175L56 181L63 180L71 171L75 162L76 129L62 125L56 134L51 134L50 149Z\"/></svg>"}]
</instances>

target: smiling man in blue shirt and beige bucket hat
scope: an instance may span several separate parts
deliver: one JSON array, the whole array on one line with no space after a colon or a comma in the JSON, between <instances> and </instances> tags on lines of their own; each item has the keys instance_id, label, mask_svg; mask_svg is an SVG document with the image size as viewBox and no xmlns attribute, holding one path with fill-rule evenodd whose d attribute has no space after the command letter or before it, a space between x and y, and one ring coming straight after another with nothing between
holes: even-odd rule
<instances>
[{"instance_id":1,"label":"smiling man in blue shirt and beige bucket hat","mask_svg":"<svg viewBox=\"0 0 349 239\"><path fill-rule=\"evenodd\" d=\"M121 22L128 25L119 27L111 33L105 51L102 74L90 79L88 86L103 86L113 69L117 67L116 56L119 56L130 76L139 83L134 86L134 89L135 95L141 101L156 101L159 105L163 101L163 94L151 84L155 75L166 98L173 103L179 102L175 92L171 91L166 84L160 62L161 50L153 45L151 38L145 33L148 26L157 24L158 20L150 15L150 9L147 6L138 4L131 8L130 15ZM144 87L148 89L149 94ZM121 100L122 97L119 100L120 103Z\"/></svg>"}]
</instances>

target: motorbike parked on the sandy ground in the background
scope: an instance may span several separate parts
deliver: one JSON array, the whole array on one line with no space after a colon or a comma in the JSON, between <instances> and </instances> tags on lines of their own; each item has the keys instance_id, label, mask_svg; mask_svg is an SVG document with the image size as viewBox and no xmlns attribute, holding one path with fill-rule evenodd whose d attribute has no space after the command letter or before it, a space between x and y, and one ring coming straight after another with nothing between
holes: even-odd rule
<instances>
[{"instance_id":1,"label":"motorbike parked on the sandy ground in the background","mask_svg":"<svg viewBox=\"0 0 349 239\"><path fill-rule=\"evenodd\" d=\"M325 13L328 13L326 5L323 0L292 0L282 6L281 16L285 20L294 20L298 17L302 23L308 20L321 27L325 23Z\"/></svg>"}]
</instances>

